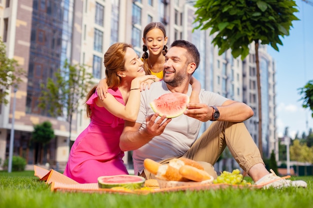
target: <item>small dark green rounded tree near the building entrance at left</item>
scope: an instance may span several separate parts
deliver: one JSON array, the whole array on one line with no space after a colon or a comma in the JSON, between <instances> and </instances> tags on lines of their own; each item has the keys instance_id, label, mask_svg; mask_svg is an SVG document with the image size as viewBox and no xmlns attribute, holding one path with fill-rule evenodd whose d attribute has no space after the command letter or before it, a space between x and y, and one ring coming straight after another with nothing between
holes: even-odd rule
<instances>
[{"instance_id":1,"label":"small dark green rounded tree near the building entrance at left","mask_svg":"<svg viewBox=\"0 0 313 208\"><path fill-rule=\"evenodd\" d=\"M52 124L49 121L44 121L41 124L33 126L31 139L35 144L35 164L41 163L41 156L43 148L48 144L51 139L55 137L52 129Z\"/></svg>"}]
</instances>

